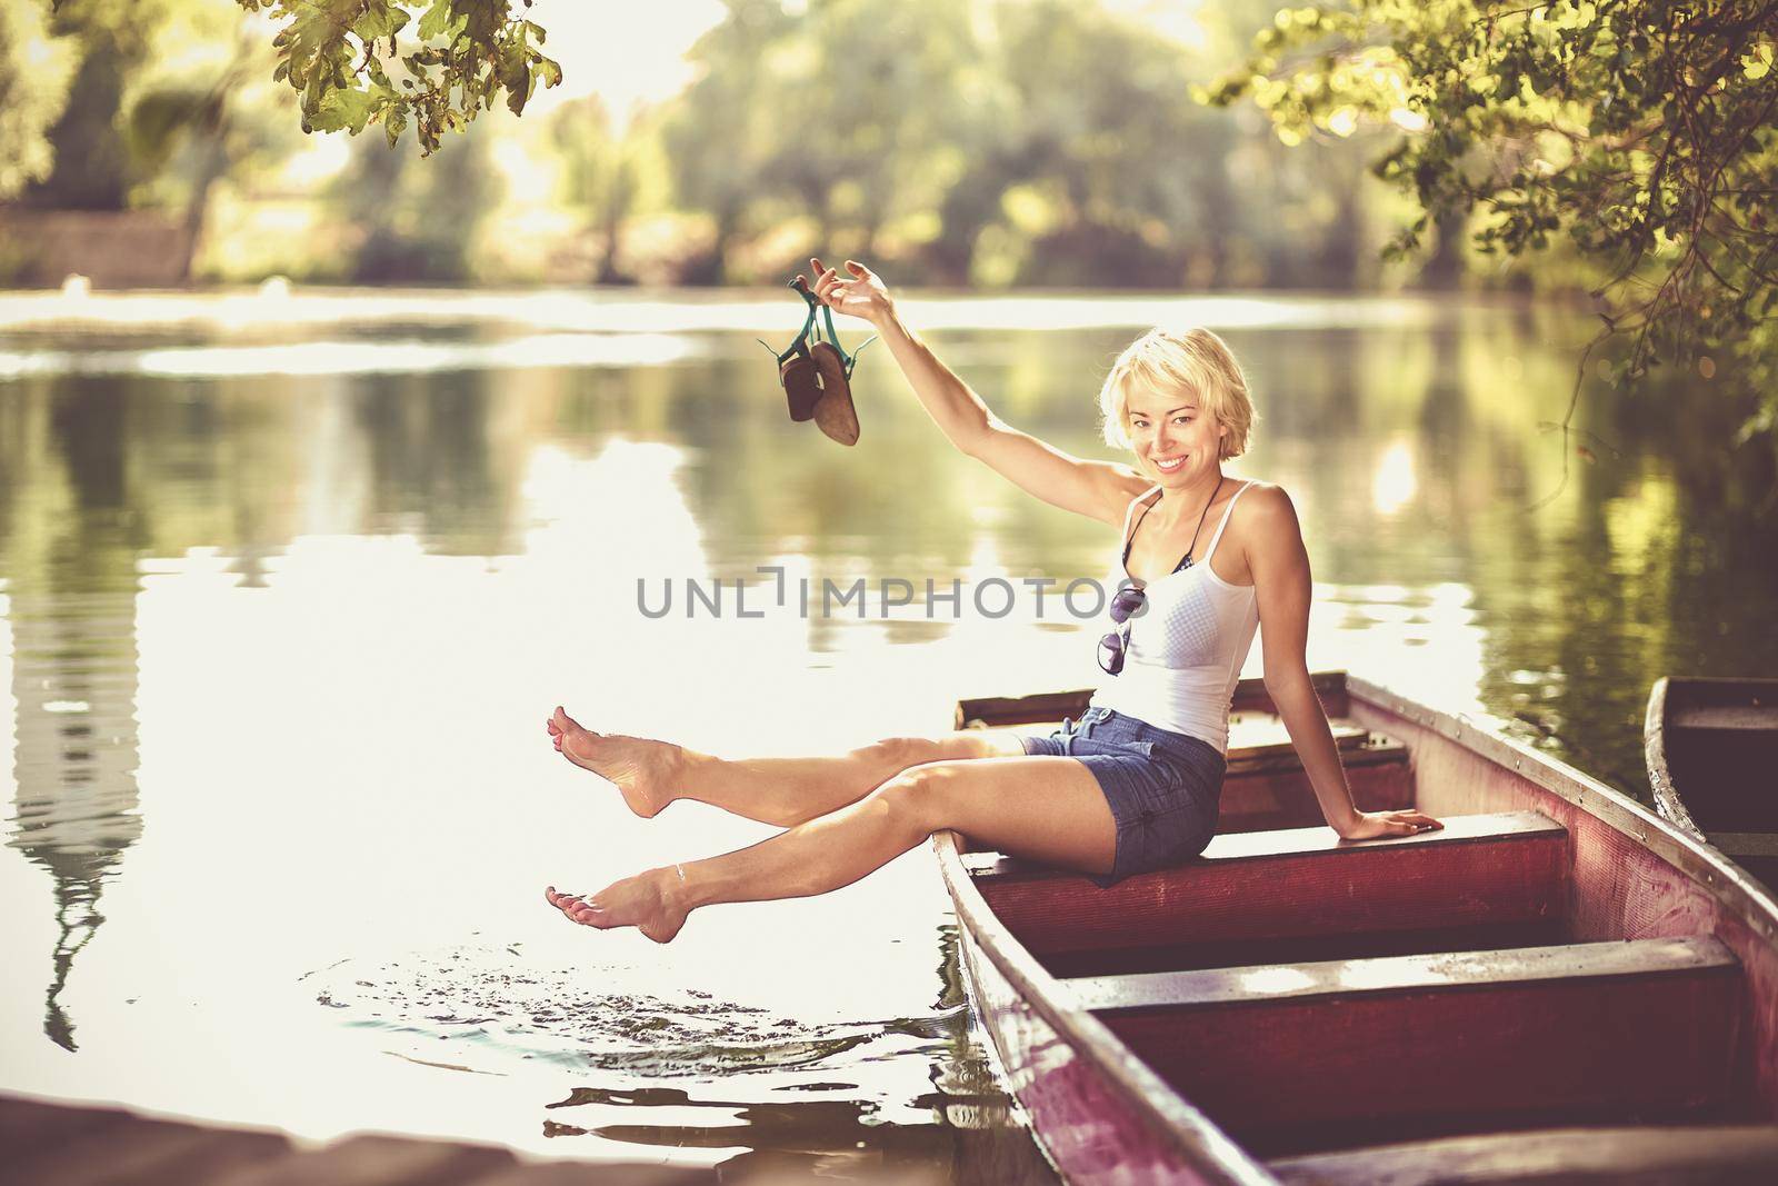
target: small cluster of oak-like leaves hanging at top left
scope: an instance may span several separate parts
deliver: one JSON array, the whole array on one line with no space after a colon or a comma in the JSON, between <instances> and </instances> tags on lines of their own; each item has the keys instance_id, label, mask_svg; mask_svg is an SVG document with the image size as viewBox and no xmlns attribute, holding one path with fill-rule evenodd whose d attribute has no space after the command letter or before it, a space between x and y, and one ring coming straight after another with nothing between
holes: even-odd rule
<instances>
[{"instance_id":1,"label":"small cluster of oak-like leaves hanging at top left","mask_svg":"<svg viewBox=\"0 0 1778 1186\"><path fill-rule=\"evenodd\" d=\"M542 25L521 16L530 0L236 2L283 23L272 76L300 96L304 132L380 124L393 148L412 126L425 156L501 94L517 116L539 82L562 82Z\"/></svg>"}]
</instances>

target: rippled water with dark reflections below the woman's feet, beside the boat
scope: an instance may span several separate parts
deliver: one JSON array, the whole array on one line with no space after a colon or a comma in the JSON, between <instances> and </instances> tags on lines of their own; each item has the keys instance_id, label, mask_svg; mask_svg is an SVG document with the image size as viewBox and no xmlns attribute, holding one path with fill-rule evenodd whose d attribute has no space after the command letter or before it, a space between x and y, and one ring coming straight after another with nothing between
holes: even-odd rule
<instances>
[{"instance_id":1,"label":"rippled water with dark reflections below the woman's feet, beside the boat","mask_svg":"<svg viewBox=\"0 0 1778 1186\"><path fill-rule=\"evenodd\" d=\"M709 1150L727 1154L711 1161L725 1182L845 1172L1049 1186L969 1014L955 925L937 928L937 953L935 1012L839 1022L660 978L640 989L624 969L555 966L523 942L340 960L304 985L341 1024L423 1067L517 1076L526 1090L539 1072L567 1072L573 1086L542 1102L557 1152L574 1152L574 1138ZM925 1063L928 1088L884 1099L869 1070L885 1060Z\"/></svg>"}]
</instances>

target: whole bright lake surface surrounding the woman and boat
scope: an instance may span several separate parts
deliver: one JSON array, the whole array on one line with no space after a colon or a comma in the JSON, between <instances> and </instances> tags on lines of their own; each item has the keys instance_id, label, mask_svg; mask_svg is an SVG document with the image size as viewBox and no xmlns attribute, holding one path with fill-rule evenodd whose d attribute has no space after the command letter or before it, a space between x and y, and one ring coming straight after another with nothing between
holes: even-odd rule
<instances>
[{"instance_id":1,"label":"whole bright lake surface surrounding the woman and boat","mask_svg":"<svg viewBox=\"0 0 1778 1186\"><path fill-rule=\"evenodd\" d=\"M1021 581L1101 576L1115 537L957 455L880 345L855 448L793 425L754 336L782 347L798 309L0 295L0 1086L724 1181L1049 1181L969 1017L928 848L823 898L702 910L667 948L542 903L773 830L701 804L631 816L549 749L557 702L798 754L1099 679L1099 624ZM1312 667L1645 798L1657 676L1778 674L1769 475L1734 448L1735 409L1702 379L1588 388L1593 461L1540 429L1582 318L903 311L1003 418L1095 457L1117 350L1159 320L1221 331L1261 411L1229 471L1296 501ZM869 597L804 615L761 567ZM996 578L1017 596L983 612ZM688 619L686 583L717 580L724 612ZM964 596L885 608L894 580Z\"/></svg>"}]
</instances>

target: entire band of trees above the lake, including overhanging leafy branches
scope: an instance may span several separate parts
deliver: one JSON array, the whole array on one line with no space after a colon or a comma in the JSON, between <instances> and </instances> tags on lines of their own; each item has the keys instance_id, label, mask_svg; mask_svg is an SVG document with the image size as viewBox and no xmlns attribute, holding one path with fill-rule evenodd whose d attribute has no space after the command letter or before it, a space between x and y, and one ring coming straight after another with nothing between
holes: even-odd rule
<instances>
[{"instance_id":1,"label":"entire band of trees above the lake, including overhanging leafy branches","mask_svg":"<svg viewBox=\"0 0 1778 1186\"><path fill-rule=\"evenodd\" d=\"M679 37L692 73L621 105L557 36L555 87L549 21ZM672 32L557 0L16 0L0 279L59 279L60 224L28 212L89 212L188 281L779 283L820 252L898 284L1534 286L1652 325L1632 370L1769 379L1774 21L724 0Z\"/></svg>"}]
</instances>

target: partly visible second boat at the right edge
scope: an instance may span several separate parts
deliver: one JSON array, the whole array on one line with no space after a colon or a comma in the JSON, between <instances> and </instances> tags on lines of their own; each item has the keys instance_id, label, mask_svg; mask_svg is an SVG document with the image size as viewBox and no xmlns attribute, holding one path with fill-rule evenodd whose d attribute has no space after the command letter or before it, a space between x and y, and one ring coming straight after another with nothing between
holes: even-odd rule
<instances>
[{"instance_id":1,"label":"partly visible second boat at the right edge","mask_svg":"<svg viewBox=\"0 0 1778 1186\"><path fill-rule=\"evenodd\" d=\"M1778 679L1657 679L1643 749L1655 811L1778 885Z\"/></svg>"}]
</instances>

